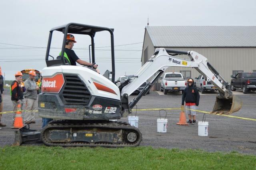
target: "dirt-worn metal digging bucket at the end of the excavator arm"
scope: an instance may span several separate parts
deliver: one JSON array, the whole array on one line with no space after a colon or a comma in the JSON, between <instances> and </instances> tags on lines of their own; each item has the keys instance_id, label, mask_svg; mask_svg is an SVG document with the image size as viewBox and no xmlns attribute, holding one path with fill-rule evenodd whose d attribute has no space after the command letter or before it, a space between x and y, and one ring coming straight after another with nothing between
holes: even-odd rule
<instances>
[{"instance_id":1,"label":"dirt-worn metal digging bucket at the end of the excavator arm","mask_svg":"<svg viewBox=\"0 0 256 170\"><path fill-rule=\"evenodd\" d=\"M229 115L239 111L242 108L242 104L242 100L235 95L231 99L220 99L217 96L211 113Z\"/></svg>"}]
</instances>

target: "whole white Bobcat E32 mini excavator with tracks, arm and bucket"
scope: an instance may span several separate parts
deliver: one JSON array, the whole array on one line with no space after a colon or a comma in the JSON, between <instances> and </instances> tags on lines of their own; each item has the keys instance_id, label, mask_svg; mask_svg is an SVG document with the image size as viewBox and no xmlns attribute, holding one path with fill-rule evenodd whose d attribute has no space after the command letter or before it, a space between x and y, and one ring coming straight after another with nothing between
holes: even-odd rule
<instances>
[{"instance_id":1,"label":"whole white Bobcat E32 mini excavator with tracks, arm and bucket","mask_svg":"<svg viewBox=\"0 0 256 170\"><path fill-rule=\"evenodd\" d=\"M50 44L54 31L63 32L60 59L49 60ZM94 56L94 36L96 32L108 31L111 37L112 81L98 74L94 69L68 65L64 59L66 36L84 34L91 37L92 62ZM187 55L181 59L176 55ZM226 81L220 82L219 73L196 51L176 51L156 49L152 57L130 79L119 87L114 84L114 36L113 30L104 27L70 23L50 30L46 51L46 64L42 70L42 87L38 97L38 114L51 121L41 131L28 127L16 131L15 144L27 140L41 139L48 146L138 146L142 140L139 129L124 122L113 122L132 113L132 108L159 79L167 67L193 67L208 77L220 91L216 97L213 113L230 114L242 107L242 102L234 96ZM140 94L130 102L128 96L152 75L153 79Z\"/></svg>"}]
</instances>

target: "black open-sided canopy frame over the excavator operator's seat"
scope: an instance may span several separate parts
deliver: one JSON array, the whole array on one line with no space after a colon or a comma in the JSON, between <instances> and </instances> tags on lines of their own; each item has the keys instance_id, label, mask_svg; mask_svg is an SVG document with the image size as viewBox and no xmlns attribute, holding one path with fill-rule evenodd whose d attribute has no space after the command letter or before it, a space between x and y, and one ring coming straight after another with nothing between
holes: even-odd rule
<instances>
[{"instance_id":1,"label":"black open-sided canopy frame over the excavator operator's seat","mask_svg":"<svg viewBox=\"0 0 256 170\"><path fill-rule=\"evenodd\" d=\"M59 59L54 59L49 52L50 52L50 46L52 41L52 34L54 31L62 32L63 35L63 43L62 43L62 50L61 55ZM115 57L114 57L114 29L106 28L106 27L99 27L99 26L90 26L85 24L78 24L78 23L68 23L66 25L58 26L55 28L52 28L50 30L49 39L48 39L48 45L46 50L46 65L47 67L51 66L58 66L58 65L67 65L66 61L64 59L64 49L65 49L65 43L66 43L66 37L68 34L83 34L88 35L91 38L91 48L92 48L92 63L95 63L95 52L94 52L94 36L96 32L101 31L108 31L110 33L110 40L111 40L111 59L112 59L112 82L114 83L114 77L115 77ZM53 59L49 60L49 56Z\"/></svg>"}]
</instances>

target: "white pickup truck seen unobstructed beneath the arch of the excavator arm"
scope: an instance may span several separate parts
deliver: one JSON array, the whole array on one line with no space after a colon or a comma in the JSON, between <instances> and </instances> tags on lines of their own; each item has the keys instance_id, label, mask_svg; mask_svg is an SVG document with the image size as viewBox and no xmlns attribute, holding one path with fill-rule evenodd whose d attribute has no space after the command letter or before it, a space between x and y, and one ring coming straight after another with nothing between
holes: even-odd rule
<instances>
[{"instance_id":1,"label":"white pickup truck seen unobstructed beneath the arch of the excavator arm","mask_svg":"<svg viewBox=\"0 0 256 170\"><path fill-rule=\"evenodd\" d=\"M165 73L161 79L160 91L166 95L168 91L183 91L187 84L181 73Z\"/></svg>"}]
</instances>

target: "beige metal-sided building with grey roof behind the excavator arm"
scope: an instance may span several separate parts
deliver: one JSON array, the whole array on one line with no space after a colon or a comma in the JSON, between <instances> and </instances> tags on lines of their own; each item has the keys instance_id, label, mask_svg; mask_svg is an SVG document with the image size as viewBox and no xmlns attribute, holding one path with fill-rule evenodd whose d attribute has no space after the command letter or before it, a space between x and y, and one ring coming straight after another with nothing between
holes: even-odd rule
<instances>
[{"instance_id":1,"label":"beige metal-sided building with grey roof behind the excavator arm","mask_svg":"<svg viewBox=\"0 0 256 170\"><path fill-rule=\"evenodd\" d=\"M197 51L230 82L230 75L256 72L256 26L146 26L142 65L156 48ZM182 58L187 56L182 55ZM198 77L192 68L169 67L166 72ZM153 87L158 89L159 84Z\"/></svg>"}]
</instances>

